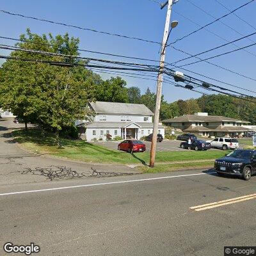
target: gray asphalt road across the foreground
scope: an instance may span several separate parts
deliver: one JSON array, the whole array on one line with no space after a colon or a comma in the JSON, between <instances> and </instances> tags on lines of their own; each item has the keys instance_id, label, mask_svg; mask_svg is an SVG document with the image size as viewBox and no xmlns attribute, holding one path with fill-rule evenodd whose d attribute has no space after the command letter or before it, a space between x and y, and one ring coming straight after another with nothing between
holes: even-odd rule
<instances>
[{"instance_id":1,"label":"gray asphalt road across the foreground","mask_svg":"<svg viewBox=\"0 0 256 256\"><path fill-rule=\"evenodd\" d=\"M3 252L10 241L34 242L41 251L33 255L45 256L223 255L223 246L256 244L256 196L190 207L255 188L256 177L246 182L212 171L2 185L0 254L12 255Z\"/></svg>"}]
</instances>

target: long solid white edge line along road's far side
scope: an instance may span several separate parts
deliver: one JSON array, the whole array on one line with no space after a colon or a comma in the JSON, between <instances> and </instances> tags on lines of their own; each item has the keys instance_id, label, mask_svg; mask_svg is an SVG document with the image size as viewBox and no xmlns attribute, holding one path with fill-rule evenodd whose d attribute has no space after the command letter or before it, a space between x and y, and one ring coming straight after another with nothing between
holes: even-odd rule
<instances>
[{"instance_id":1,"label":"long solid white edge line along road's far side","mask_svg":"<svg viewBox=\"0 0 256 256\"><path fill-rule=\"evenodd\" d=\"M140 179L140 180L123 180L123 181L85 184L85 185L68 186L68 187L60 187L60 188L47 188L47 189L38 189L38 190L18 191L18 192L3 193L3 194L0 194L0 196L17 195L17 194L25 194L25 193L36 193L36 192L42 192L42 191L53 191L53 190L70 189L70 188L85 188L85 187L92 187L92 186L100 186L100 185L103 186L103 185L109 185L109 184L121 184L121 183L128 183L128 182L141 182L141 181L145 181L145 180L172 179L172 178L178 178L178 177L188 177L188 176L204 175L204 174L211 174L211 173L216 173L216 172L194 173L194 174L156 177L156 178Z\"/></svg>"}]
</instances>

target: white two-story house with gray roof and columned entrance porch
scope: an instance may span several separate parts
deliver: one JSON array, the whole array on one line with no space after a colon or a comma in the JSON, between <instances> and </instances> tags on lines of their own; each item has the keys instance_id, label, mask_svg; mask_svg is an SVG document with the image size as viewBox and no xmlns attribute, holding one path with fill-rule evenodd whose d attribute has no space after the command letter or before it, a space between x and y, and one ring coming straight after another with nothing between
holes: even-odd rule
<instances>
[{"instance_id":1,"label":"white two-story house with gray roof and columned entrance porch","mask_svg":"<svg viewBox=\"0 0 256 256\"><path fill-rule=\"evenodd\" d=\"M92 122L76 121L77 126L84 127L88 141L106 140L106 134L139 140L153 132L154 114L143 104L97 101L90 102L89 108L95 113ZM164 137L163 125L159 124L158 133Z\"/></svg>"}]
</instances>

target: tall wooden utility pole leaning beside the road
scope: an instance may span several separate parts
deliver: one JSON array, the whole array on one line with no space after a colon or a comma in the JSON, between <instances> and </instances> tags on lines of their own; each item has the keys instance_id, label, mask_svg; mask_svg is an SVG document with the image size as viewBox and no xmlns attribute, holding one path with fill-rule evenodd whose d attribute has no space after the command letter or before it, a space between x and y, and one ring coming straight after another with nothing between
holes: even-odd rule
<instances>
[{"instance_id":1,"label":"tall wooden utility pole leaning beside the road","mask_svg":"<svg viewBox=\"0 0 256 256\"><path fill-rule=\"evenodd\" d=\"M161 106L161 96L162 96L162 84L163 84L163 71L164 71L164 58L165 58L165 51L166 51L166 44L169 35L170 29L170 19L171 19L171 12L172 12L172 4L173 0L168 0L161 6L161 9L164 8L168 4L167 14L166 14L166 22L164 27L164 36L163 42L161 47L161 56L160 56L160 67L157 76L157 91L156 91L156 109L154 115L154 128L153 128L153 136L152 136L152 143L151 143L151 150L150 150L150 167L154 167L155 165L155 158L156 158L156 143L157 143L157 133L158 133L158 124L159 124L159 113L160 113L160 106Z\"/></svg>"}]
</instances>

